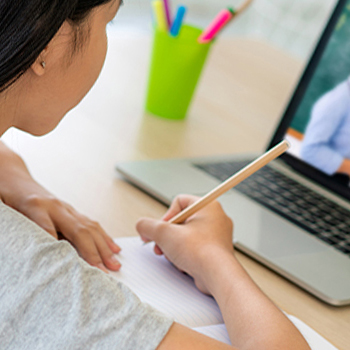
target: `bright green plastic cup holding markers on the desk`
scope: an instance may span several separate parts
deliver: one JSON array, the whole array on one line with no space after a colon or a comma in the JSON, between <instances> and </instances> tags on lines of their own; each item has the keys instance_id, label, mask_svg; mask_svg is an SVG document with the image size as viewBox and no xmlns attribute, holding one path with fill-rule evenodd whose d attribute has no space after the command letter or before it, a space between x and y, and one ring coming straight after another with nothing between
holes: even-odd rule
<instances>
[{"instance_id":1,"label":"bright green plastic cup holding markers on the desk","mask_svg":"<svg viewBox=\"0 0 350 350\"><path fill-rule=\"evenodd\" d=\"M186 117L212 45L198 43L201 33L188 25L177 37L155 30L146 112L174 120Z\"/></svg>"}]
</instances>

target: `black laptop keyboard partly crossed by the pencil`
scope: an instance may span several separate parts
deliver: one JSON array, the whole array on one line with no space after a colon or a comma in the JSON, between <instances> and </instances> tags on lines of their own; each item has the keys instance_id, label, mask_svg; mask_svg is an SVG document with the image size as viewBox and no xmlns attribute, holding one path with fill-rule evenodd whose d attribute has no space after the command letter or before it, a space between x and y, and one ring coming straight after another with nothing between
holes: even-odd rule
<instances>
[{"instance_id":1,"label":"black laptop keyboard partly crossed by the pencil","mask_svg":"<svg viewBox=\"0 0 350 350\"><path fill-rule=\"evenodd\" d=\"M220 181L249 162L194 164ZM350 257L350 211L265 166L235 187Z\"/></svg>"}]
</instances>

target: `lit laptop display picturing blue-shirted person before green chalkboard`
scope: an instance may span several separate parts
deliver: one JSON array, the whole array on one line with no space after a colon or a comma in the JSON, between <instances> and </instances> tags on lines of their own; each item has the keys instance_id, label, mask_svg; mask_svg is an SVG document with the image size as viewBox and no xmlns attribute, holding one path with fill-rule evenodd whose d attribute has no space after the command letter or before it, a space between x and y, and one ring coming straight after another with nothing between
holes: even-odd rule
<instances>
[{"instance_id":1,"label":"lit laptop display picturing blue-shirted person before green chalkboard","mask_svg":"<svg viewBox=\"0 0 350 350\"><path fill-rule=\"evenodd\" d=\"M290 153L349 186L350 179L350 6L319 57L319 63L287 130Z\"/></svg>"}]
</instances>

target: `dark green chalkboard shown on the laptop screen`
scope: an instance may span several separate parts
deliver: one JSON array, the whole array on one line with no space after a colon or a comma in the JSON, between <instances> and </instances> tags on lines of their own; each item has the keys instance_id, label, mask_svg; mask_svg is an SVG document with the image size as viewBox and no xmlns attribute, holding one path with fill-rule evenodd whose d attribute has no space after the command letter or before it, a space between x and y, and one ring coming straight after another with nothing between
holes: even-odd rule
<instances>
[{"instance_id":1,"label":"dark green chalkboard shown on the laptop screen","mask_svg":"<svg viewBox=\"0 0 350 350\"><path fill-rule=\"evenodd\" d=\"M304 133L317 100L350 76L350 0L323 53L291 127Z\"/></svg>"}]
</instances>

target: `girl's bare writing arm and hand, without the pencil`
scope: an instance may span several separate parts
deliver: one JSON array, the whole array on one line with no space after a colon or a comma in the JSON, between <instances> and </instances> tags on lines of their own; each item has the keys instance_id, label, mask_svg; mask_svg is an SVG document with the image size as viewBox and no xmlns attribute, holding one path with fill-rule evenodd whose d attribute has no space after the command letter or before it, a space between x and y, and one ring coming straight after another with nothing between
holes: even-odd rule
<instances>
[{"instance_id":1,"label":"girl's bare writing arm and hand, without the pencil","mask_svg":"<svg viewBox=\"0 0 350 350\"><path fill-rule=\"evenodd\" d=\"M195 197L175 200L165 221L192 204ZM232 245L232 223L217 202L183 225L142 219L137 229L145 241L155 241L163 254L191 275L197 287L219 304L235 349L310 350L289 319L262 293L238 260ZM233 349L174 324L159 350Z\"/></svg>"}]
</instances>

